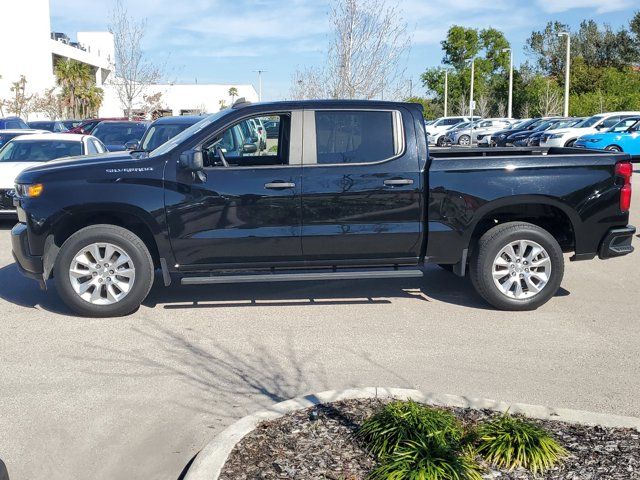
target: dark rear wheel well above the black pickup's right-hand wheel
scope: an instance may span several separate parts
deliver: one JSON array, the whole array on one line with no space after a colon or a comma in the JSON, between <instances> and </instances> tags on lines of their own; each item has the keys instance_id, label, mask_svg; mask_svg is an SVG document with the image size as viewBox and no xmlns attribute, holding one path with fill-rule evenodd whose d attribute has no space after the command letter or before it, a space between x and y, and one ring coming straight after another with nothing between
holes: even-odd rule
<instances>
[{"instance_id":1,"label":"dark rear wheel well above the black pickup's right-hand wheel","mask_svg":"<svg viewBox=\"0 0 640 480\"><path fill-rule=\"evenodd\" d=\"M489 229L506 222L528 222L544 228L558 241L563 252L575 250L575 232L571 220L558 207L545 204L522 204L500 207L485 215L476 225L470 250Z\"/></svg>"}]
</instances>

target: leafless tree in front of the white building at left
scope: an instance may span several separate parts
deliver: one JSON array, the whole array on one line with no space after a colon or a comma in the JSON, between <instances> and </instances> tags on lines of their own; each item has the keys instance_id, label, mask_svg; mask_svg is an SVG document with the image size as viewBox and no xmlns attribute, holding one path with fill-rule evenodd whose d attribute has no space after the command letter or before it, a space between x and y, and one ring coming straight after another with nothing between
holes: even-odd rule
<instances>
[{"instance_id":1,"label":"leafless tree in front of the white building at left","mask_svg":"<svg viewBox=\"0 0 640 480\"><path fill-rule=\"evenodd\" d=\"M111 79L120 103L131 118L133 103L149 85L162 76L160 67L145 58L142 40L147 32L147 21L132 20L121 0L116 0L111 13L109 31L113 34L115 65Z\"/></svg>"}]
</instances>

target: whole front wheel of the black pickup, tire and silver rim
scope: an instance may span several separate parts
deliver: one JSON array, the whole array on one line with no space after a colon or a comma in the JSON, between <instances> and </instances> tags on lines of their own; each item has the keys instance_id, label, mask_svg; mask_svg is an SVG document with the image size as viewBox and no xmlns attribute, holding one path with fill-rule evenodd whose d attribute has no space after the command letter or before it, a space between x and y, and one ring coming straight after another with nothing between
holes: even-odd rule
<instances>
[{"instance_id":1,"label":"whole front wheel of the black pickup, tire and silver rim","mask_svg":"<svg viewBox=\"0 0 640 480\"><path fill-rule=\"evenodd\" d=\"M144 242L115 225L92 225L71 235L54 265L62 300L87 317L135 311L153 285L153 260Z\"/></svg>"}]
</instances>

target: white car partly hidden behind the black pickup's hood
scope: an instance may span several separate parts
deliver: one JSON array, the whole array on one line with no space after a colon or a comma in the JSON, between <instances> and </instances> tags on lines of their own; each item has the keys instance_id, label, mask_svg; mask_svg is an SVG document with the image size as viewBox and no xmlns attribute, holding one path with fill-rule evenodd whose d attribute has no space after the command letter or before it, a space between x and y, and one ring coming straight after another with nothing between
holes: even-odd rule
<instances>
[{"instance_id":1,"label":"white car partly hidden behind the black pickup's hood","mask_svg":"<svg viewBox=\"0 0 640 480\"><path fill-rule=\"evenodd\" d=\"M0 215L13 216L15 179L28 167L62 157L106 152L100 140L91 135L39 133L20 135L0 148Z\"/></svg>"}]
</instances>

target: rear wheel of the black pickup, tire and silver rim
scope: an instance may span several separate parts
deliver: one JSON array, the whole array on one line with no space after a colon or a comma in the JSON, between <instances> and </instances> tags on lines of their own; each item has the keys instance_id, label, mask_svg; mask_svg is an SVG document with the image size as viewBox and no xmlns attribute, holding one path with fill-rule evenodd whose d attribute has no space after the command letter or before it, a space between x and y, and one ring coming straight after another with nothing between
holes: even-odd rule
<instances>
[{"instance_id":1,"label":"rear wheel of the black pickup, tire and silver rim","mask_svg":"<svg viewBox=\"0 0 640 480\"><path fill-rule=\"evenodd\" d=\"M562 249L546 230L525 222L498 225L479 240L471 282L500 310L535 310L560 288Z\"/></svg>"}]
</instances>

